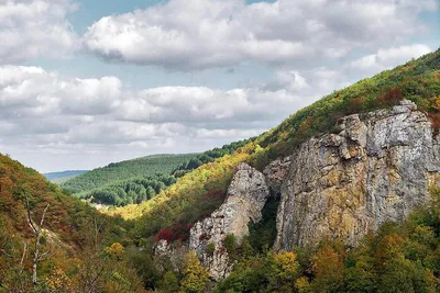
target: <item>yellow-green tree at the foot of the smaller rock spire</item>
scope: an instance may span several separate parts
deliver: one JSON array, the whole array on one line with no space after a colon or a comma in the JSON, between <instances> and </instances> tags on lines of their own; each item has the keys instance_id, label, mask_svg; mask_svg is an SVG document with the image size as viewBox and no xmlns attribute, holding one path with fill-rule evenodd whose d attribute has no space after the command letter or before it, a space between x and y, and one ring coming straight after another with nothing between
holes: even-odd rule
<instances>
[{"instance_id":1,"label":"yellow-green tree at the foot of the smaller rock spire","mask_svg":"<svg viewBox=\"0 0 440 293\"><path fill-rule=\"evenodd\" d=\"M194 251L185 256L184 279L180 281L180 292L199 293L204 292L208 283L208 272L201 266L200 260Z\"/></svg>"}]
</instances>

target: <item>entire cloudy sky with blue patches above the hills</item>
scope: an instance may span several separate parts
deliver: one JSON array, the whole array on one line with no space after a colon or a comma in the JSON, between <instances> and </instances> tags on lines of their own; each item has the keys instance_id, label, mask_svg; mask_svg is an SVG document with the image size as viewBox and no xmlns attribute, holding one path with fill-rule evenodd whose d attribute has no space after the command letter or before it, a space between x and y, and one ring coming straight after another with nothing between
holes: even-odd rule
<instances>
[{"instance_id":1,"label":"entire cloudy sky with blue patches above the hills","mask_svg":"<svg viewBox=\"0 0 440 293\"><path fill-rule=\"evenodd\" d=\"M196 153L436 50L440 0L0 0L0 153Z\"/></svg>"}]
</instances>

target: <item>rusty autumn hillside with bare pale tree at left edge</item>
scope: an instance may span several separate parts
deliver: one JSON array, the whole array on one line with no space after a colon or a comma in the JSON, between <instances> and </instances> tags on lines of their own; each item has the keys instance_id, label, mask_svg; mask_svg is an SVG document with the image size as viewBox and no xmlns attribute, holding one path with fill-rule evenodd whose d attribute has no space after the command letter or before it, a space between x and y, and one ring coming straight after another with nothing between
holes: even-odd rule
<instances>
[{"instance_id":1,"label":"rusty autumn hillside with bare pale tree at left edge","mask_svg":"<svg viewBox=\"0 0 440 293\"><path fill-rule=\"evenodd\" d=\"M64 194L1 154L0 209L0 292L103 292L113 285L139 292L139 281L123 262L101 258L106 247L123 239L127 223ZM35 256L37 285L31 279ZM109 267L120 282L111 284Z\"/></svg>"}]
</instances>

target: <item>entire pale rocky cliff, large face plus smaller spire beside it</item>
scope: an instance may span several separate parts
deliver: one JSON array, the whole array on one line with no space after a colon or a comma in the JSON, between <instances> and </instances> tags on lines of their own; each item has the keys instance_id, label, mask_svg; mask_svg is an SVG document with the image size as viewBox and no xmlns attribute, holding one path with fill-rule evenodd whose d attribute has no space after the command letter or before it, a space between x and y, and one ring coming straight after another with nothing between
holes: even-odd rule
<instances>
[{"instance_id":1,"label":"entire pale rocky cliff, large face plus smaller spire beside it","mask_svg":"<svg viewBox=\"0 0 440 293\"><path fill-rule=\"evenodd\" d=\"M226 202L190 230L189 249L213 280L232 269L227 235L239 243L249 235L270 196L279 199L275 250L324 237L355 246L366 232L402 222L429 200L429 187L440 182L440 136L414 103L345 116L337 126L338 133L307 140L263 172L238 166ZM157 247L173 257L167 250L166 243Z\"/></svg>"}]
</instances>

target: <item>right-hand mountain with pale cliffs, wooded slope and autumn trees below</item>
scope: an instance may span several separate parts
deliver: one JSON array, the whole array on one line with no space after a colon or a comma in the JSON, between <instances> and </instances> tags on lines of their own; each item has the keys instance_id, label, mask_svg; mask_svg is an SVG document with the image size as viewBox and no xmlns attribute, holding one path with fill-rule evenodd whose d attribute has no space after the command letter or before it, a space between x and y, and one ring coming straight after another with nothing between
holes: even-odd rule
<instances>
[{"instance_id":1,"label":"right-hand mountain with pale cliffs, wooded slope and autumn trees below","mask_svg":"<svg viewBox=\"0 0 440 293\"><path fill-rule=\"evenodd\" d=\"M370 278L361 286L366 292L381 292L374 283L413 291L417 278L436 292L440 268L425 257L438 259L439 226L431 218L438 202L431 198L440 182L439 128L437 50L336 91L154 199L109 213L134 219L133 241L154 239L155 256L178 260L195 250L211 278L230 275L220 292L260 292L251 289L260 279L279 280L272 273L283 277L288 268L292 279L283 282L290 291L263 292L359 292L346 285L359 285L350 278L361 271L350 266L363 263L371 266L364 271L371 275L361 275ZM437 212L429 215L429 209ZM387 228L389 221L398 224ZM428 247L415 236L424 229ZM384 267L380 256L398 258Z\"/></svg>"}]
</instances>

